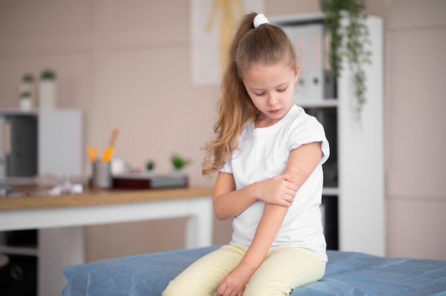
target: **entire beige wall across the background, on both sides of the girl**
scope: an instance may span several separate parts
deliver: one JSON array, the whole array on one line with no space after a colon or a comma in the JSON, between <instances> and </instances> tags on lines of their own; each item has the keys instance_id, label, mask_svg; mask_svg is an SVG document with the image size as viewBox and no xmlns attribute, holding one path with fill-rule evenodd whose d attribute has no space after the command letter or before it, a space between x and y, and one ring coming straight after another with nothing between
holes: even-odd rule
<instances>
[{"instance_id":1,"label":"entire beige wall across the background, on both sides of the girl","mask_svg":"<svg viewBox=\"0 0 446 296\"><path fill-rule=\"evenodd\" d=\"M264 12L315 12L318 3L265 0ZM446 1L365 4L385 21L387 254L446 260ZM189 23L184 0L0 0L0 107L19 105L24 73L51 67L58 105L85 111L85 142L104 149L118 127L116 157L155 159L165 172L179 152L194 159L192 186L211 186L200 147L219 90L192 84ZM88 260L182 248L182 222L91 226ZM227 242L229 223L216 224L214 243Z\"/></svg>"}]
</instances>

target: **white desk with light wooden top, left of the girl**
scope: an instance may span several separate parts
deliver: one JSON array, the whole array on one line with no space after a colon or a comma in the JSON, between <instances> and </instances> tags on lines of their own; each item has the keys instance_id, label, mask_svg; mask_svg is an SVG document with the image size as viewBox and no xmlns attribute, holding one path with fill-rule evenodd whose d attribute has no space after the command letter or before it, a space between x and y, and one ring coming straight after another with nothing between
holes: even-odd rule
<instances>
[{"instance_id":1,"label":"white desk with light wooden top, left of the girl","mask_svg":"<svg viewBox=\"0 0 446 296\"><path fill-rule=\"evenodd\" d=\"M61 268L85 263L83 226L177 217L188 217L186 248L211 245L212 189L0 198L0 231L39 229L39 296L60 296L66 283Z\"/></svg>"}]
</instances>

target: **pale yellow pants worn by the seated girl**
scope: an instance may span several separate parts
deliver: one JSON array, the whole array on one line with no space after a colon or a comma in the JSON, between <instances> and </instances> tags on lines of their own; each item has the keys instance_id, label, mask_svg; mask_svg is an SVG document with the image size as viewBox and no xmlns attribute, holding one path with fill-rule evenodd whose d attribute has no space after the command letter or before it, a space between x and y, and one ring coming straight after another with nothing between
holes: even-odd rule
<instances>
[{"instance_id":1,"label":"pale yellow pants worn by the seated girl","mask_svg":"<svg viewBox=\"0 0 446 296\"><path fill-rule=\"evenodd\" d=\"M242 260L247 248L224 245L192 263L175 277L162 296L216 295L220 282ZM249 280L244 296L289 295L301 285L320 280L326 262L304 248L284 247L266 253Z\"/></svg>"}]
</instances>

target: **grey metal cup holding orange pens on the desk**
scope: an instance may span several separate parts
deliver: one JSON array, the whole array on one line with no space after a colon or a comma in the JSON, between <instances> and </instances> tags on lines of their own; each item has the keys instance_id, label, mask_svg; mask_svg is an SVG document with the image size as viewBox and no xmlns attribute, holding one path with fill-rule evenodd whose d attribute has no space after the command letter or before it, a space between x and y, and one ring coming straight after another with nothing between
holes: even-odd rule
<instances>
[{"instance_id":1,"label":"grey metal cup holding orange pens on the desk","mask_svg":"<svg viewBox=\"0 0 446 296\"><path fill-rule=\"evenodd\" d=\"M97 147L87 146L87 154L93 164L91 186L94 188L108 189L112 186L111 159L115 150L115 141L118 137L118 129L113 131L110 143L102 154L98 154Z\"/></svg>"}]
</instances>

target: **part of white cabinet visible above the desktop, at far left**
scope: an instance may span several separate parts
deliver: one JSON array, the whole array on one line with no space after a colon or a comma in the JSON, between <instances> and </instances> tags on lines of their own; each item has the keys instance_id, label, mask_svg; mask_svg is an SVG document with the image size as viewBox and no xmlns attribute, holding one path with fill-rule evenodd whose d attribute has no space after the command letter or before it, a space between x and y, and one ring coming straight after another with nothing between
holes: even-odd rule
<instances>
[{"instance_id":1,"label":"part of white cabinet visible above the desktop, at far left","mask_svg":"<svg viewBox=\"0 0 446 296\"><path fill-rule=\"evenodd\" d=\"M77 109L0 109L0 179L53 174L82 177L83 113Z\"/></svg>"}]
</instances>

